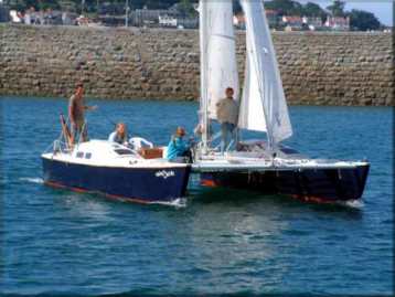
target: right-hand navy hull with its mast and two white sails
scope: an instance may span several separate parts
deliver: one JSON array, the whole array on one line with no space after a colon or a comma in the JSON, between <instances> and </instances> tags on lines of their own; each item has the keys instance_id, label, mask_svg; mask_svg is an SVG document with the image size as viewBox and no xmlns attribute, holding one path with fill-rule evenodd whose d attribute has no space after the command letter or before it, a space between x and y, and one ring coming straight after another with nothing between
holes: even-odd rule
<instances>
[{"instance_id":1,"label":"right-hand navy hull with its mast and two white sails","mask_svg":"<svg viewBox=\"0 0 395 297\"><path fill-rule=\"evenodd\" d=\"M266 132L266 140L242 141L237 150L211 147L210 123L226 87L238 99L232 0L200 1L202 141L192 170L203 185L257 190L309 201L334 202L362 197L366 161L309 159L280 142L292 135L270 31L261 0L241 0L246 20L246 68L238 129Z\"/></svg>"}]
</instances>

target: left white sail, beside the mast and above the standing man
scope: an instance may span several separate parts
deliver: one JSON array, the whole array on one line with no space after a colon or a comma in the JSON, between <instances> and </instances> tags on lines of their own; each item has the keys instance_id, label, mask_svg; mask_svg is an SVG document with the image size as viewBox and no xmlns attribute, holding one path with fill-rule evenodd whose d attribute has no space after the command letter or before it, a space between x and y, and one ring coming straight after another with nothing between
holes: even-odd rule
<instances>
[{"instance_id":1,"label":"left white sail, beside the mast and above the standing man","mask_svg":"<svg viewBox=\"0 0 395 297\"><path fill-rule=\"evenodd\" d=\"M203 2L202 0L201 2ZM216 103L225 97L225 89L232 87L238 99L238 72L236 40L233 26L232 0L206 0L206 73L207 116L216 119ZM204 42L203 42L204 44ZM204 54L204 53L203 53ZM203 71L203 70L202 70ZM204 92L204 89L202 89Z\"/></svg>"}]
</instances>

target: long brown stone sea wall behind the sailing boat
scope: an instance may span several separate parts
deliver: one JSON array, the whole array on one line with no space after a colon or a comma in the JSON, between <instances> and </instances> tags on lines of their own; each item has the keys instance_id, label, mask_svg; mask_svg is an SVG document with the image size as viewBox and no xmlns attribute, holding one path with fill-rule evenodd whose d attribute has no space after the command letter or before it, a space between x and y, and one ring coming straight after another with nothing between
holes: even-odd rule
<instances>
[{"instance_id":1,"label":"long brown stone sea wall behind the sailing boat","mask_svg":"<svg viewBox=\"0 0 395 297\"><path fill-rule=\"evenodd\" d=\"M0 95L196 99L194 30L0 25ZM237 33L241 76L245 35ZM276 32L290 104L393 105L389 33Z\"/></svg>"}]
</instances>

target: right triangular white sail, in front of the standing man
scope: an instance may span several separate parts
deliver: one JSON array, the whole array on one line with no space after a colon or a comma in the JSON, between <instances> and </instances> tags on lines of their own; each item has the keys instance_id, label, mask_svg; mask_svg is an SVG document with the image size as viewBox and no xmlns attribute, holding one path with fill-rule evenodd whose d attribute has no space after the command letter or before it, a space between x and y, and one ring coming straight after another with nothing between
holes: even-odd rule
<instances>
[{"instance_id":1,"label":"right triangular white sail, in front of the standing man","mask_svg":"<svg viewBox=\"0 0 395 297\"><path fill-rule=\"evenodd\" d=\"M263 1L241 0L241 4L246 20L247 63L239 127L267 131L271 141L279 142L292 135L292 128Z\"/></svg>"}]
</instances>

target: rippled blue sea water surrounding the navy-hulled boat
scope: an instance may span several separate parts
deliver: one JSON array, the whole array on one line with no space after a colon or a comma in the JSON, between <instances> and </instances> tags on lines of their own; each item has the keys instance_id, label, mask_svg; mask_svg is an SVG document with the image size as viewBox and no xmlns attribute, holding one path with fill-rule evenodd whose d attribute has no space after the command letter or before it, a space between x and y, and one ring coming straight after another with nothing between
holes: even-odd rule
<instances>
[{"instance_id":1,"label":"rippled blue sea water surrounding the navy-hulled boat","mask_svg":"<svg viewBox=\"0 0 395 297\"><path fill-rule=\"evenodd\" d=\"M139 205L42 184L40 153L65 99L2 97L0 293L391 294L393 119L382 107L290 107L289 145L367 158L363 205L324 206L191 187L184 205ZM90 100L92 138L111 121L166 144L194 103Z\"/></svg>"}]
</instances>

